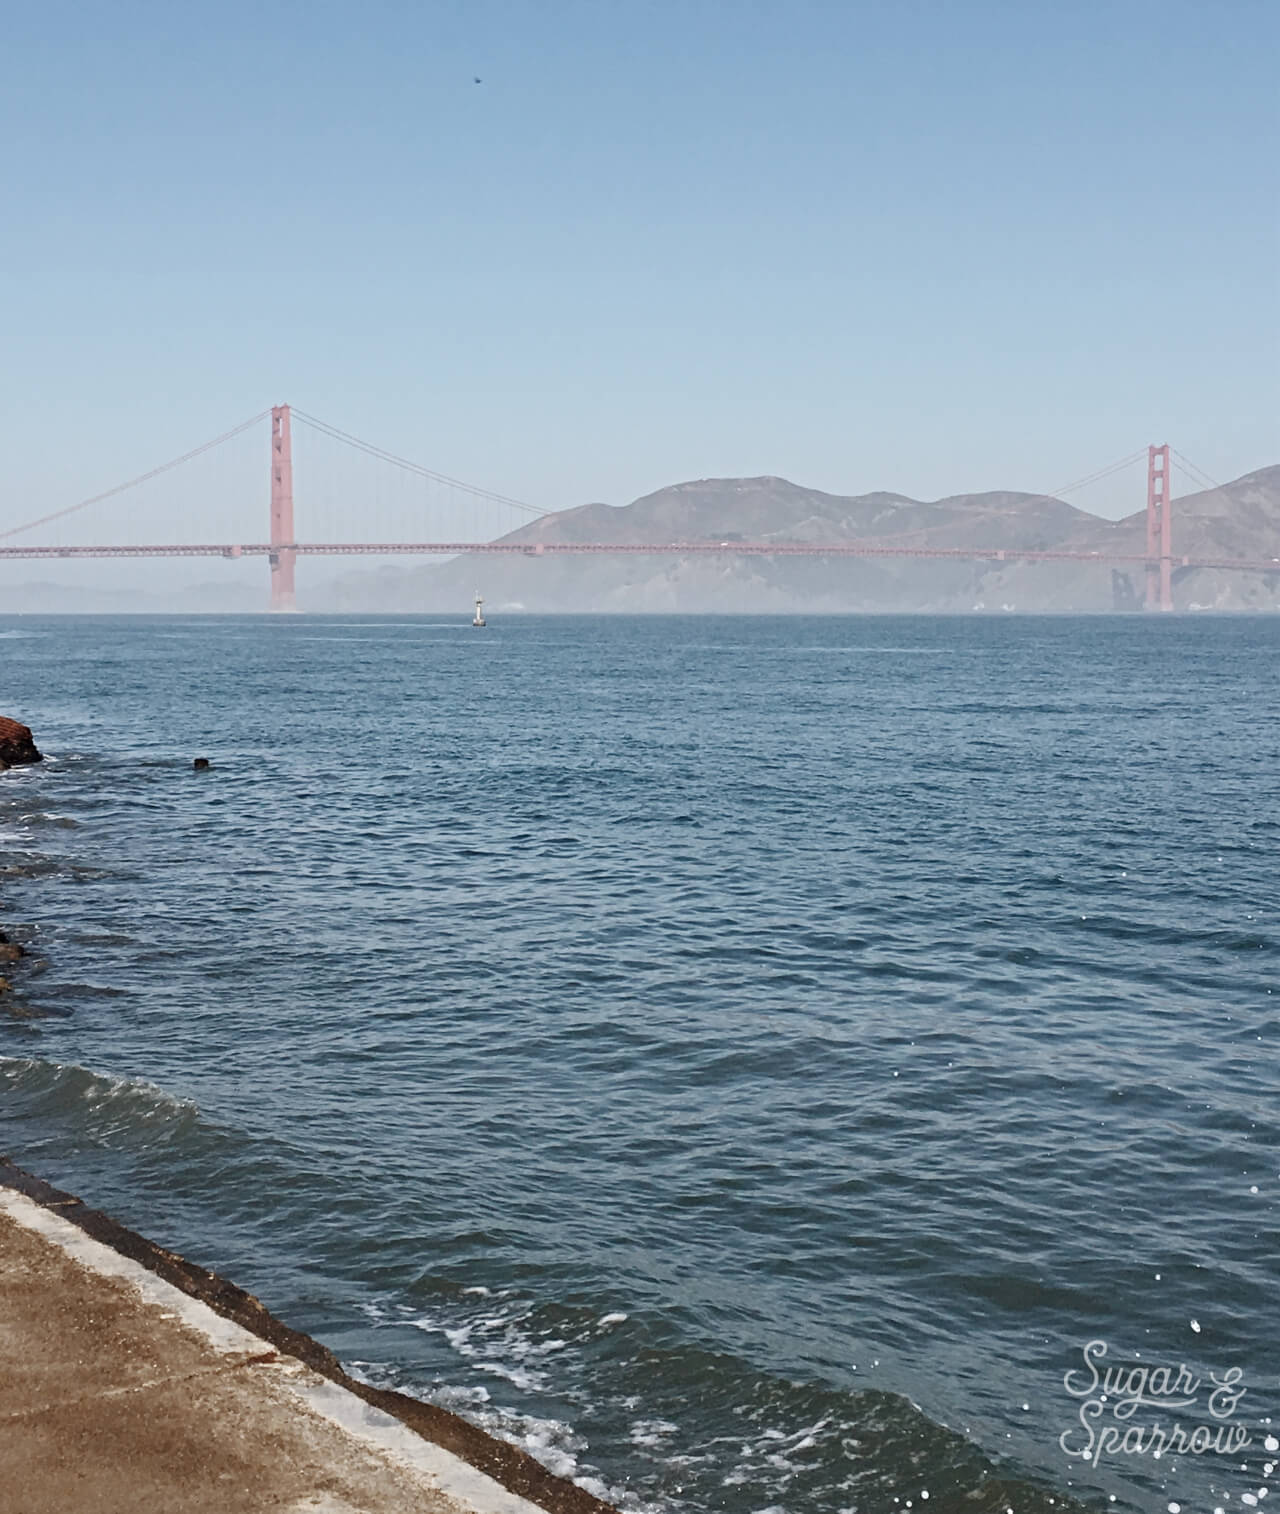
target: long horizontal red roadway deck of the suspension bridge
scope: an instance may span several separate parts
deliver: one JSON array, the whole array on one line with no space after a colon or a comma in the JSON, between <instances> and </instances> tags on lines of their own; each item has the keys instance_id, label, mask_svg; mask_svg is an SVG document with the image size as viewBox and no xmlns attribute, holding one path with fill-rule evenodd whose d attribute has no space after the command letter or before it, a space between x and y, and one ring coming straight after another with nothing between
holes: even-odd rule
<instances>
[{"instance_id":1,"label":"long horizontal red roadway deck of the suspension bridge","mask_svg":"<svg viewBox=\"0 0 1280 1514\"><path fill-rule=\"evenodd\" d=\"M0 557L456 557L467 553L504 557L648 556L648 557L929 557L969 562L1135 563L1159 562L1145 553L1038 551L1021 547L903 547L877 542L206 542L191 547L0 547ZM1280 557L1183 557L1172 568L1224 568L1280 574Z\"/></svg>"}]
</instances>

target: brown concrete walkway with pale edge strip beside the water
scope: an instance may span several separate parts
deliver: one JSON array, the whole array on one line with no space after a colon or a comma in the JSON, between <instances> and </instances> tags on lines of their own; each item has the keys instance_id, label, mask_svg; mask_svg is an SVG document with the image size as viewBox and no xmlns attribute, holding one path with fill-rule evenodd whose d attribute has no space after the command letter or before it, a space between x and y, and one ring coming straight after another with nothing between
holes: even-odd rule
<instances>
[{"instance_id":1,"label":"brown concrete walkway with pale edge strip beside the water","mask_svg":"<svg viewBox=\"0 0 1280 1514\"><path fill-rule=\"evenodd\" d=\"M395 1410L397 1394L348 1387L336 1363L317 1370L226 1317L244 1313L242 1301L261 1310L248 1294L214 1279L232 1301L215 1311L92 1238L59 1213L56 1198L38 1202L5 1185L14 1172L0 1170L3 1514L604 1511L582 1488L464 1426L457 1434L479 1437L483 1459L507 1484L523 1479L538 1502L510 1491L403 1422L444 1411L386 1413L370 1399ZM83 1210L70 1196L65 1208ZM332 1361L308 1337L273 1325L273 1334L314 1347L321 1367Z\"/></svg>"}]
</instances>

